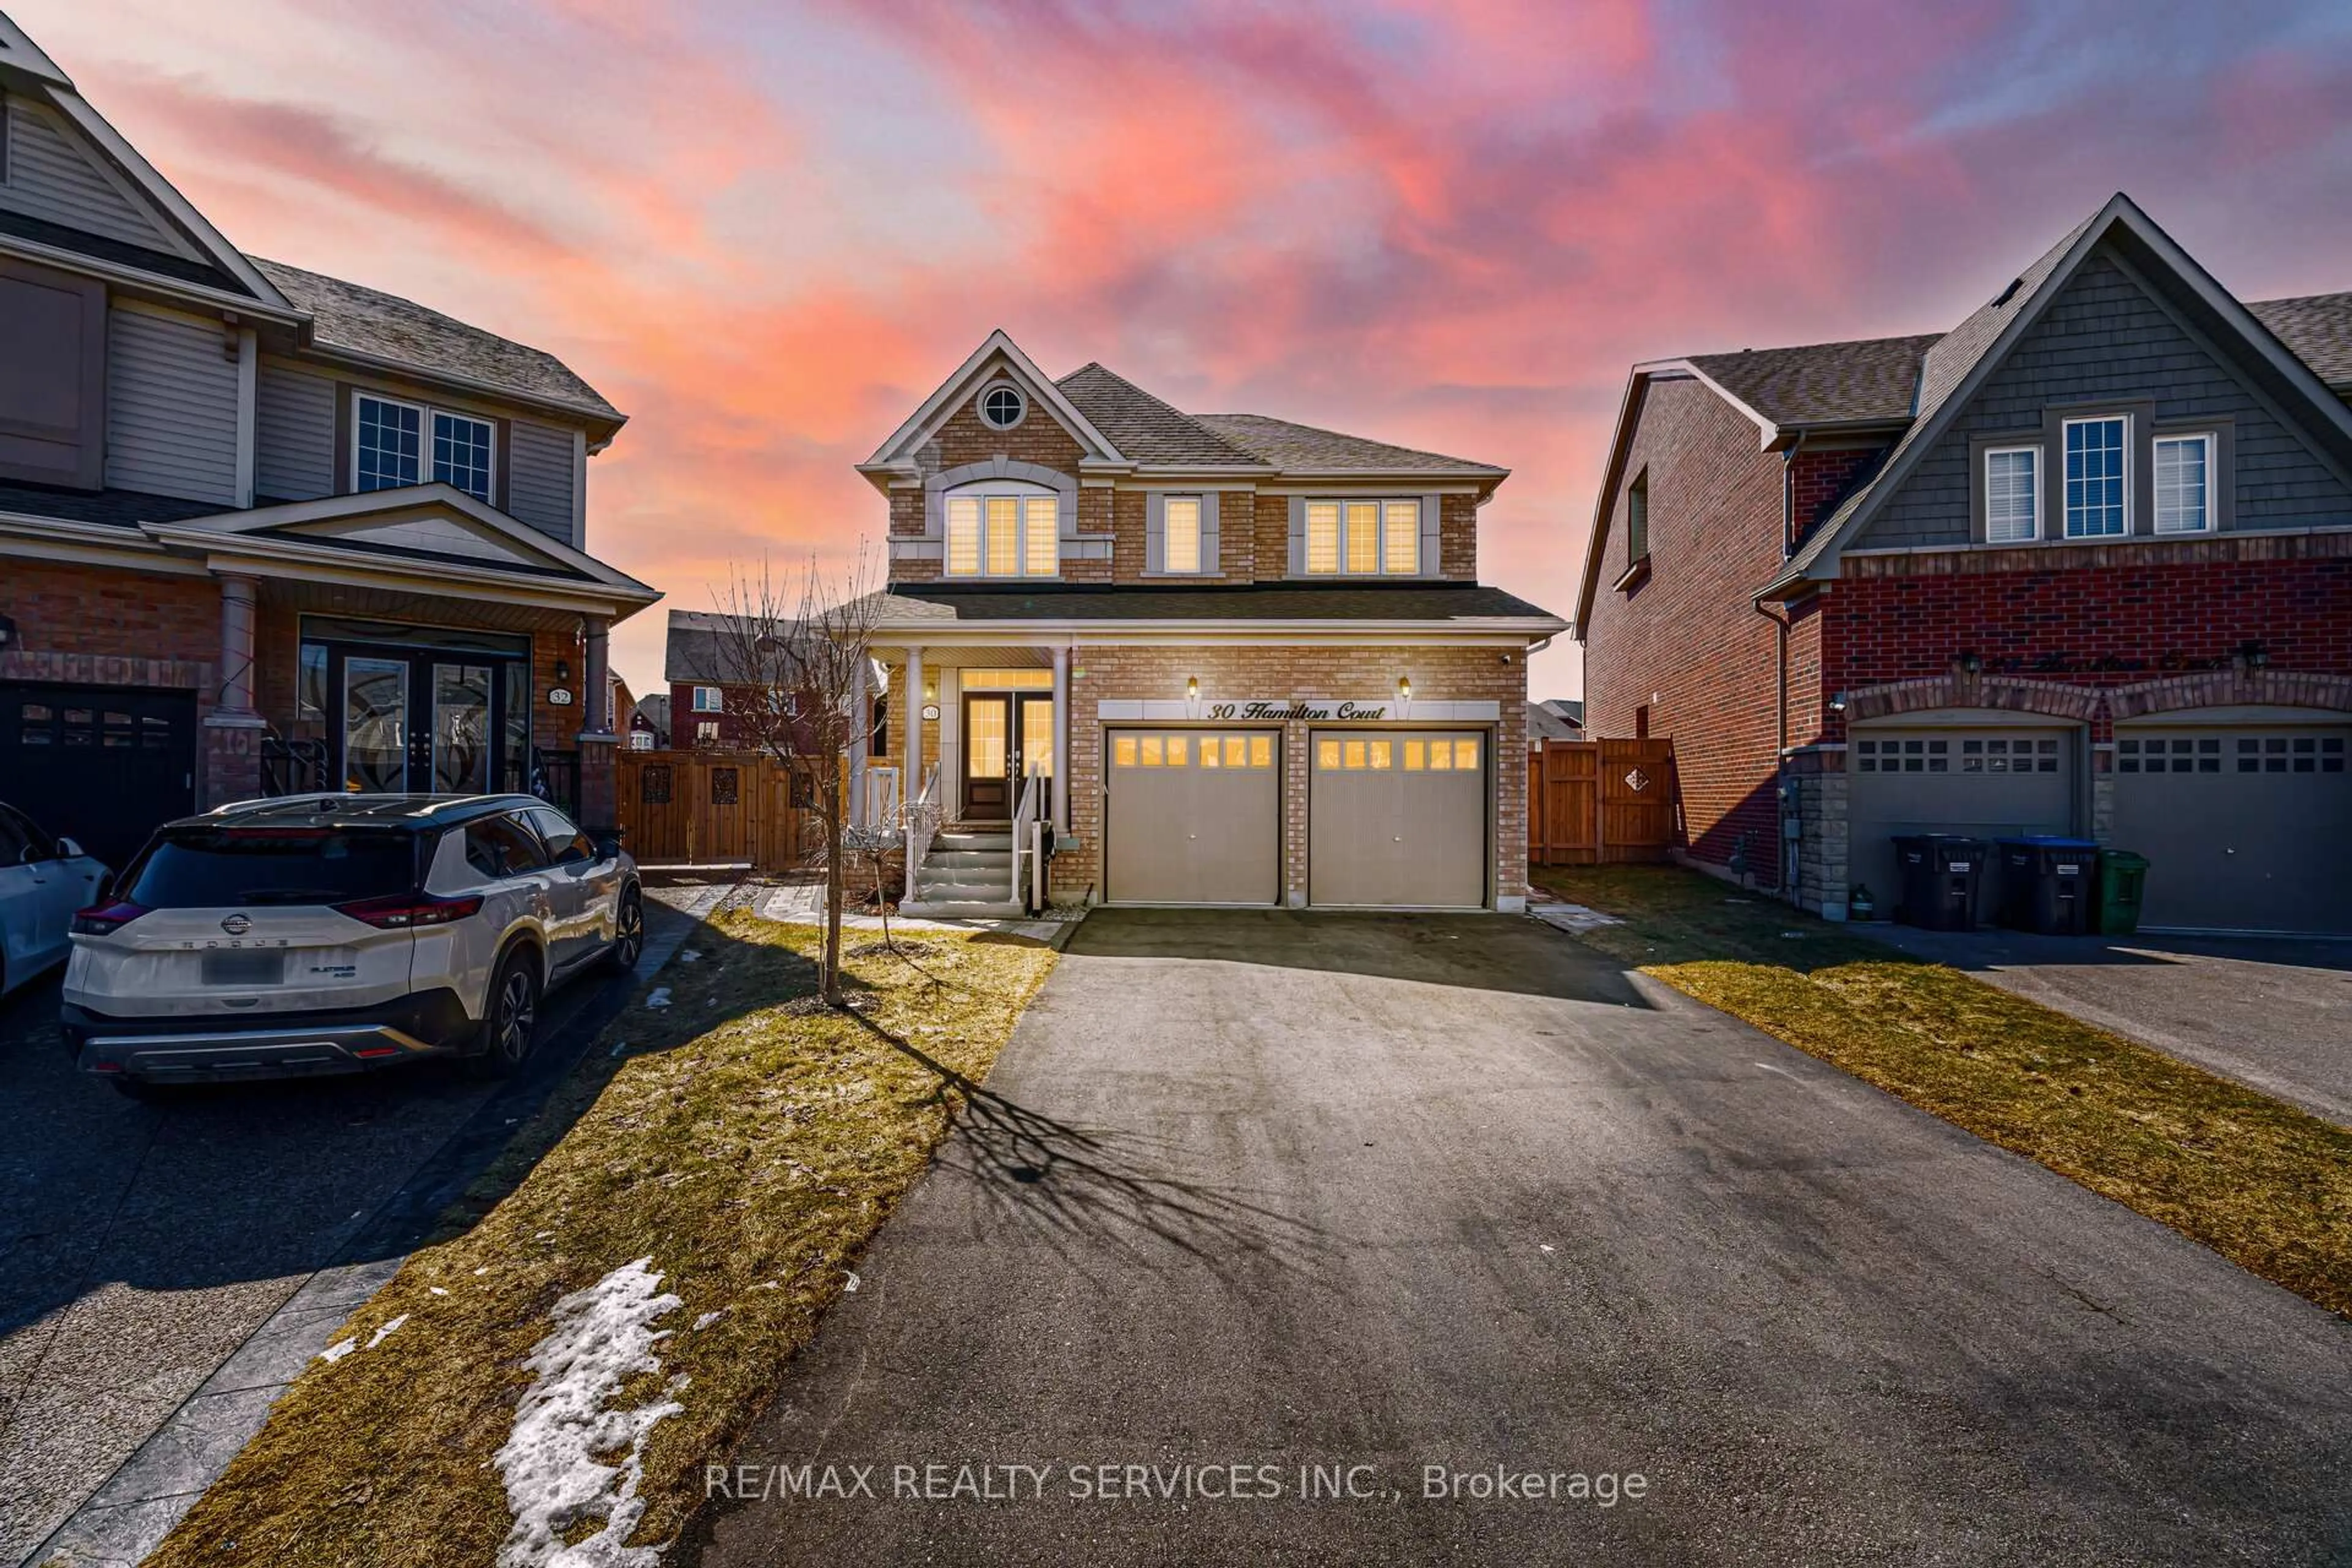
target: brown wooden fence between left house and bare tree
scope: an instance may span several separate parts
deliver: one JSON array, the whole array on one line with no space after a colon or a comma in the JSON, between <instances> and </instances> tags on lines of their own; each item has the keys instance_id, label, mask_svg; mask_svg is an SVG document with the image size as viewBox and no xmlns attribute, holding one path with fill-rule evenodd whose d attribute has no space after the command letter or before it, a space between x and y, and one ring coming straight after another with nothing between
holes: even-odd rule
<instances>
[{"instance_id":1,"label":"brown wooden fence between left house and bare tree","mask_svg":"<svg viewBox=\"0 0 2352 1568\"><path fill-rule=\"evenodd\" d=\"M807 769L760 752L621 752L621 827L640 863L786 872L816 842Z\"/></svg>"}]
</instances>

